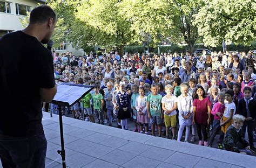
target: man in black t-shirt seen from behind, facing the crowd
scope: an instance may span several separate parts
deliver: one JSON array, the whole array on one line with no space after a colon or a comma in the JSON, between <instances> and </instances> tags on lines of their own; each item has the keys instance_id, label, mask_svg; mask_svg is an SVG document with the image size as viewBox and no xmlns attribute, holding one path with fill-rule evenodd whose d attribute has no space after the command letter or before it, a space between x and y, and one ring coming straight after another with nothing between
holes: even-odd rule
<instances>
[{"instance_id":1,"label":"man in black t-shirt seen from behind, facing the crowd","mask_svg":"<svg viewBox=\"0 0 256 168\"><path fill-rule=\"evenodd\" d=\"M41 5L31 11L28 27L0 39L0 93L3 97L0 101L0 156L3 167L45 167L47 141L41 107L42 101L52 101L57 87L53 58L43 44L49 42L55 25L55 12Z\"/></svg>"}]
</instances>

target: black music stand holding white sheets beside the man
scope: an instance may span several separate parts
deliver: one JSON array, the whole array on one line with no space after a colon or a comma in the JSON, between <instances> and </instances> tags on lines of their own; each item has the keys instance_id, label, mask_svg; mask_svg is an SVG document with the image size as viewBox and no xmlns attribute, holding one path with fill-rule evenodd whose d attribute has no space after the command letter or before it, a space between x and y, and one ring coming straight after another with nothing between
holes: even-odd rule
<instances>
[{"instance_id":1,"label":"black music stand holding white sheets beside the man","mask_svg":"<svg viewBox=\"0 0 256 168\"><path fill-rule=\"evenodd\" d=\"M76 85L71 83L60 83L57 86L57 93L52 104L57 104L59 109L59 129L60 129L60 143L62 150L58 150L62 156L62 167L66 167L65 149L64 149L64 136L63 136L63 122L62 122L62 109L61 107L71 107L89 93L94 87L87 85Z\"/></svg>"}]
</instances>

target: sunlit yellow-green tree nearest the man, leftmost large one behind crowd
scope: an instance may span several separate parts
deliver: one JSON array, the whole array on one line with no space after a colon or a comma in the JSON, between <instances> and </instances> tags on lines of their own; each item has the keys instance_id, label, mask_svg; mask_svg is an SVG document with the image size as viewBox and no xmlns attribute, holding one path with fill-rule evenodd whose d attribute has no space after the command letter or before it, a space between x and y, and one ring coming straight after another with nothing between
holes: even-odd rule
<instances>
[{"instance_id":1,"label":"sunlit yellow-green tree nearest the man, leftmost large one behind crowd","mask_svg":"<svg viewBox=\"0 0 256 168\"><path fill-rule=\"evenodd\" d=\"M78 7L76 17L85 25L92 27L92 41L98 46L116 46L123 54L124 45L138 37L131 29L120 8L123 2L91 0ZM86 12L85 12L86 11Z\"/></svg>"}]
</instances>

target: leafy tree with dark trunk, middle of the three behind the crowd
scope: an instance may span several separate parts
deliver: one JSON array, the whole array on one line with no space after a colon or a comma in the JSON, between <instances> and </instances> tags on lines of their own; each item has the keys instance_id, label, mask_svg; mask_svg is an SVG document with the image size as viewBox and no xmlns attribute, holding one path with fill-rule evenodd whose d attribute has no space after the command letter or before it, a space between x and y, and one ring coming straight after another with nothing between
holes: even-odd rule
<instances>
[{"instance_id":1,"label":"leafy tree with dark trunk, middle of the three behind the crowd","mask_svg":"<svg viewBox=\"0 0 256 168\"><path fill-rule=\"evenodd\" d=\"M150 34L152 45L162 44L166 39L172 43L185 41L190 53L199 39L197 27L192 25L194 13L200 8L200 1L185 0L124 0L125 17L132 20L132 29L142 34Z\"/></svg>"}]
</instances>

